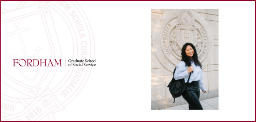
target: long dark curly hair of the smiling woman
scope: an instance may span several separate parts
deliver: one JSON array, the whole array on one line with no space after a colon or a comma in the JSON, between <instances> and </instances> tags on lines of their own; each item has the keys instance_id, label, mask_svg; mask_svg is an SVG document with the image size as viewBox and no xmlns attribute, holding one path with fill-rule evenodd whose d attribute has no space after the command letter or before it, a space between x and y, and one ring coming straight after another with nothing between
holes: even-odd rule
<instances>
[{"instance_id":1,"label":"long dark curly hair of the smiling woman","mask_svg":"<svg viewBox=\"0 0 256 122\"><path fill-rule=\"evenodd\" d=\"M195 49L195 46L191 43L186 43L185 45L182 46L181 49L181 55L182 55L182 61L184 61L186 63L185 66L191 66L191 58L189 56L187 56L185 50L187 48L187 46L190 45L193 50L194 50L194 54L192 56L193 61L195 62L195 66L200 66L200 68L202 69L202 64L200 63L200 61L198 60L198 56L197 56L197 50Z\"/></svg>"}]
</instances>

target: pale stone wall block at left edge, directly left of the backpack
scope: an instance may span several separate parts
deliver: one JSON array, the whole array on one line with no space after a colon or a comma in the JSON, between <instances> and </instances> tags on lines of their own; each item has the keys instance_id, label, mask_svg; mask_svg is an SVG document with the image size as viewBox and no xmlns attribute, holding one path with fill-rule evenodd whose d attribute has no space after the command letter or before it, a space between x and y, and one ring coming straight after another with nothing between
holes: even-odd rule
<instances>
[{"instance_id":1,"label":"pale stone wall block at left edge, directly left of the backpack","mask_svg":"<svg viewBox=\"0 0 256 122\"><path fill-rule=\"evenodd\" d=\"M164 76L151 77L151 102L166 99Z\"/></svg>"}]
</instances>

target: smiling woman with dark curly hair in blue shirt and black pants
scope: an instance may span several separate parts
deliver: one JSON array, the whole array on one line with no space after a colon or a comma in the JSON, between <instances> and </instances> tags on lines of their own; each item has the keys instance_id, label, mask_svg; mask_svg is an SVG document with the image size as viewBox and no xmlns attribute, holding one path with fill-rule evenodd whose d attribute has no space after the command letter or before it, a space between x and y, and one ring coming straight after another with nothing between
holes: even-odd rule
<instances>
[{"instance_id":1,"label":"smiling woman with dark curly hair in blue shirt and black pants","mask_svg":"<svg viewBox=\"0 0 256 122\"><path fill-rule=\"evenodd\" d=\"M191 73L189 84L182 94L182 97L189 103L189 110L203 110L199 102L200 90L206 93L206 89L202 82L202 65L198 60L197 50L191 43L186 43L181 49L182 60L176 67L174 79L179 80L184 78L185 83Z\"/></svg>"}]
</instances>

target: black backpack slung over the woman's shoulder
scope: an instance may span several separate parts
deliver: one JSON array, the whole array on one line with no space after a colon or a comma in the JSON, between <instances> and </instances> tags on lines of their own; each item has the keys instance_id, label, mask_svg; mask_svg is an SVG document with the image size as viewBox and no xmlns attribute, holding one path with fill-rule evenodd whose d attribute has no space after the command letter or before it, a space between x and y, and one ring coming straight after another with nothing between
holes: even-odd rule
<instances>
[{"instance_id":1,"label":"black backpack slung over the woman's shoulder","mask_svg":"<svg viewBox=\"0 0 256 122\"><path fill-rule=\"evenodd\" d=\"M176 70L176 67L175 67L175 69L173 71L172 80L169 83L169 85L167 86L169 88L169 90L170 90L170 93L171 93L172 97L174 98L173 103L175 102L175 98L181 97L183 92L186 90L187 85L189 84L189 79L187 80L186 84L185 84L184 78L180 79L180 80L175 80L174 79L175 70ZM193 71L191 73L193 73ZM189 73L189 78L191 76L191 73Z\"/></svg>"}]
</instances>

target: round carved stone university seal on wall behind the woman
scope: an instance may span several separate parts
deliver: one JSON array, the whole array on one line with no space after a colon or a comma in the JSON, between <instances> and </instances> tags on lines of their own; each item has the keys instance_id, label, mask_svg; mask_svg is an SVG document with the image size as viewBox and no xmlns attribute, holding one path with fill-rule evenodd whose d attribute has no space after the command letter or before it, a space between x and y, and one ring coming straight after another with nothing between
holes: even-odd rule
<instances>
[{"instance_id":1,"label":"round carved stone university seal on wall behind the woman","mask_svg":"<svg viewBox=\"0 0 256 122\"><path fill-rule=\"evenodd\" d=\"M159 17L152 41L159 62L173 72L181 61L181 48L189 42L197 49L204 69L213 55L213 36L209 25L198 13L189 9L170 9Z\"/></svg>"}]
</instances>

